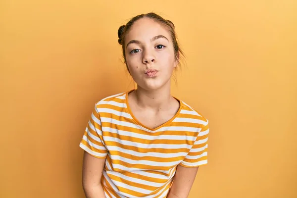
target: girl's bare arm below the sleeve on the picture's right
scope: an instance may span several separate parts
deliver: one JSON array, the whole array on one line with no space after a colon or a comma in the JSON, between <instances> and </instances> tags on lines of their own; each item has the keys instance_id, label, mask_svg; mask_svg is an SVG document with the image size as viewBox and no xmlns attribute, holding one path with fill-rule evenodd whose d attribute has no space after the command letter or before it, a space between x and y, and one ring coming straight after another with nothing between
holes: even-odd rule
<instances>
[{"instance_id":1,"label":"girl's bare arm below the sleeve on the picture's right","mask_svg":"<svg viewBox=\"0 0 297 198\"><path fill-rule=\"evenodd\" d=\"M188 198L197 171L198 167L186 168L178 165L167 198Z\"/></svg>"}]
</instances>

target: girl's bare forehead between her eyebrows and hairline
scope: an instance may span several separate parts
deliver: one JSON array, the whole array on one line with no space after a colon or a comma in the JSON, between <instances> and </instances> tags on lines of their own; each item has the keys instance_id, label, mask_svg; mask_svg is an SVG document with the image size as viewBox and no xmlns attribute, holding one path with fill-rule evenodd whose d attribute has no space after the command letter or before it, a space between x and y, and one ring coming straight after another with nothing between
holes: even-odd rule
<instances>
[{"instance_id":1,"label":"girl's bare forehead between her eyebrows and hairline","mask_svg":"<svg viewBox=\"0 0 297 198\"><path fill-rule=\"evenodd\" d=\"M142 18L133 24L133 26L125 36L125 40L146 40L158 35L163 35L168 38L169 32L159 23L151 19Z\"/></svg>"}]
</instances>

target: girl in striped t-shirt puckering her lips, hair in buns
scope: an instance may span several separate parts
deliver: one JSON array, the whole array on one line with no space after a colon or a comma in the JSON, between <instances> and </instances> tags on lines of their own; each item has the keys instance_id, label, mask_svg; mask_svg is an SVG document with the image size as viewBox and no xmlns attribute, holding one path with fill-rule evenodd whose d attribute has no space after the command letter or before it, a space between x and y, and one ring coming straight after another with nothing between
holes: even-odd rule
<instances>
[{"instance_id":1,"label":"girl in striped t-shirt puckering her lips, hair in buns","mask_svg":"<svg viewBox=\"0 0 297 198\"><path fill-rule=\"evenodd\" d=\"M187 198L207 163L208 120L170 95L183 55L174 25L155 13L118 30L137 89L96 103L80 147L87 198Z\"/></svg>"}]
</instances>

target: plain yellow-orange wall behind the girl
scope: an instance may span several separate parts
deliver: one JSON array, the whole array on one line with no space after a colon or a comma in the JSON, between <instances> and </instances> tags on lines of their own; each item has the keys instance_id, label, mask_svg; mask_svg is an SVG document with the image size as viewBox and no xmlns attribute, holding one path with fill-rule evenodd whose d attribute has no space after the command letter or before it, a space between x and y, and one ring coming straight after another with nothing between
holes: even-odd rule
<instances>
[{"instance_id":1,"label":"plain yellow-orange wall behind the girl","mask_svg":"<svg viewBox=\"0 0 297 198\"><path fill-rule=\"evenodd\" d=\"M133 88L117 29L150 11L187 55L172 94L210 120L189 198L297 198L296 0L2 0L1 198L84 197L93 105Z\"/></svg>"}]
</instances>

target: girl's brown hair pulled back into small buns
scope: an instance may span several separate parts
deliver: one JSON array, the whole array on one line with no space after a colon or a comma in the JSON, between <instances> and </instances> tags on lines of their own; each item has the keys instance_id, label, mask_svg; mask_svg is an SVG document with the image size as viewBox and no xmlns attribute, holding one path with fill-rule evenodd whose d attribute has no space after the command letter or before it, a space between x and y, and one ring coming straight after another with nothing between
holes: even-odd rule
<instances>
[{"instance_id":1,"label":"girl's brown hair pulled back into small buns","mask_svg":"<svg viewBox=\"0 0 297 198\"><path fill-rule=\"evenodd\" d=\"M174 28L175 28L174 24L171 21L166 20L157 14L150 12L147 14L140 14L138 16L133 17L126 25L122 25L118 29L118 38L119 38L118 43L120 45L122 45L123 57L124 57L126 66L127 66L127 62L126 62L125 44L124 44L125 36L128 33L128 31L131 29L133 24L141 18L152 19L153 21L159 23L161 26L163 26L170 32L171 39L173 42L173 47L174 47L175 58L178 60L178 63L180 64L180 59L184 58L185 55L184 55L184 52L182 51L182 49L180 49L180 47L179 47L177 36L176 36L175 30L174 30ZM128 66L127 66L127 69L128 69ZM128 69L128 71L129 71L129 69Z\"/></svg>"}]
</instances>

